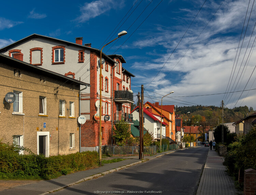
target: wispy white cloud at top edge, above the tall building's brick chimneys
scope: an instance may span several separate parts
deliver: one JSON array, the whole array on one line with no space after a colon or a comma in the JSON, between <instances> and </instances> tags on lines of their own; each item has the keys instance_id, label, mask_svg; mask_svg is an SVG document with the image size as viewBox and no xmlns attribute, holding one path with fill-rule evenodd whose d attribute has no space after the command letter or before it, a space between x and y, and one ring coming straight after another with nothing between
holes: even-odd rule
<instances>
[{"instance_id":1,"label":"wispy white cloud at top edge, above the tall building's brick chimneys","mask_svg":"<svg viewBox=\"0 0 256 195\"><path fill-rule=\"evenodd\" d=\"M90 3L84 3L80 7L81 15L75 20L80 23L88 21L90 18L95 18L111 9L120 9L124 5L124 0L97 0Z\"/></svg>"}]
</instances>

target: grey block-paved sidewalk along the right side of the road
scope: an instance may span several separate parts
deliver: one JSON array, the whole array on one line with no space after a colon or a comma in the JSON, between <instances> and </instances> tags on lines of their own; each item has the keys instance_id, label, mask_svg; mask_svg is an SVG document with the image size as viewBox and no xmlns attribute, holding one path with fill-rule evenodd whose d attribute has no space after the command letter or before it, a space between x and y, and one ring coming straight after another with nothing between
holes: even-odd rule
<instances>
[{"instance_id":1,"label":"grey block-paved sidewalk along the right side of the road","mask_svg":"<svg viewBox=\"0 0 256 195\"><path fill-rule=\"evenodd\" d=\"M233 179L226 174L223 161L223 157L215 150L209 150L196 195L242 194L235 189Z\"/></svg>"}]
</instances>

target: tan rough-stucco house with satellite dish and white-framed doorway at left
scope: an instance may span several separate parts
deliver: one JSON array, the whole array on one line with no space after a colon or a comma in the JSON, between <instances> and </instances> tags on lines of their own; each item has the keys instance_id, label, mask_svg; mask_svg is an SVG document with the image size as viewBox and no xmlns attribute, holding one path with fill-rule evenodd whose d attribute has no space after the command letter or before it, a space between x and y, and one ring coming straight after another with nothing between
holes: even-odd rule
<instances>
[{"instance_id":1,"label":"tan rough-stucco house with satellite dish and white-framed doorway at left","mask_svg":"<svg viewBox=\"0 0 256 195\"><path fill-rule=\"evenodd\" d=\"M0 54L0 141L46 157L79 151L78 94L89 84L14 58Z\"/></svg>"}]
</instances>

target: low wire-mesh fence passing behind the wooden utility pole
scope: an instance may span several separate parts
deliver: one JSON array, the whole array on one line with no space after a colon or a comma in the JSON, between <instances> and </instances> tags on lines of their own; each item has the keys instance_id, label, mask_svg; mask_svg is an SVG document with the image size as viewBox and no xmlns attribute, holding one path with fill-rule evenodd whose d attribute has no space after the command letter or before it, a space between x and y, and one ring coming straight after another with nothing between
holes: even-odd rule
<instances>
[{"instance_id":1,"label":"low wire-mesh fence passing behind the wooden utility pole","mask_svg":"<svg viewBox=\"0 0 256 195\"><path fill-rule=\"evenodd\" d=\"M102 154L105 155L139 155L140 146L102 146ZM156 155L156 146L144 146L144 155Z\"/></svg>"}]
</instances>

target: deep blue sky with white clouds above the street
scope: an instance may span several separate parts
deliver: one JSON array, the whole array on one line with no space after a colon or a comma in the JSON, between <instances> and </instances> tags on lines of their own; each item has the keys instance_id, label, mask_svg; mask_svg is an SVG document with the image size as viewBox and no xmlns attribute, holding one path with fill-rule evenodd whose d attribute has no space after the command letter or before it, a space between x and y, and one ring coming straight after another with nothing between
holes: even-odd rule
<instances>
[{"instance_id":1,"label":"deep blue sky with white clouds above the street","mask_svg":"<svg viewBox=\"0 0 256 195\"><path fill-rule=\"evenodd\" d=\"M4 1L0 48L37 33L70 42L83 37L101 49L126 30L103 52L123 55L123 66L136 76L134 95L143 84L145 101L174 91L163 104L224 100L228 108L256 109L255 6L252 0Z\"/></svg>"}]
</instances>

